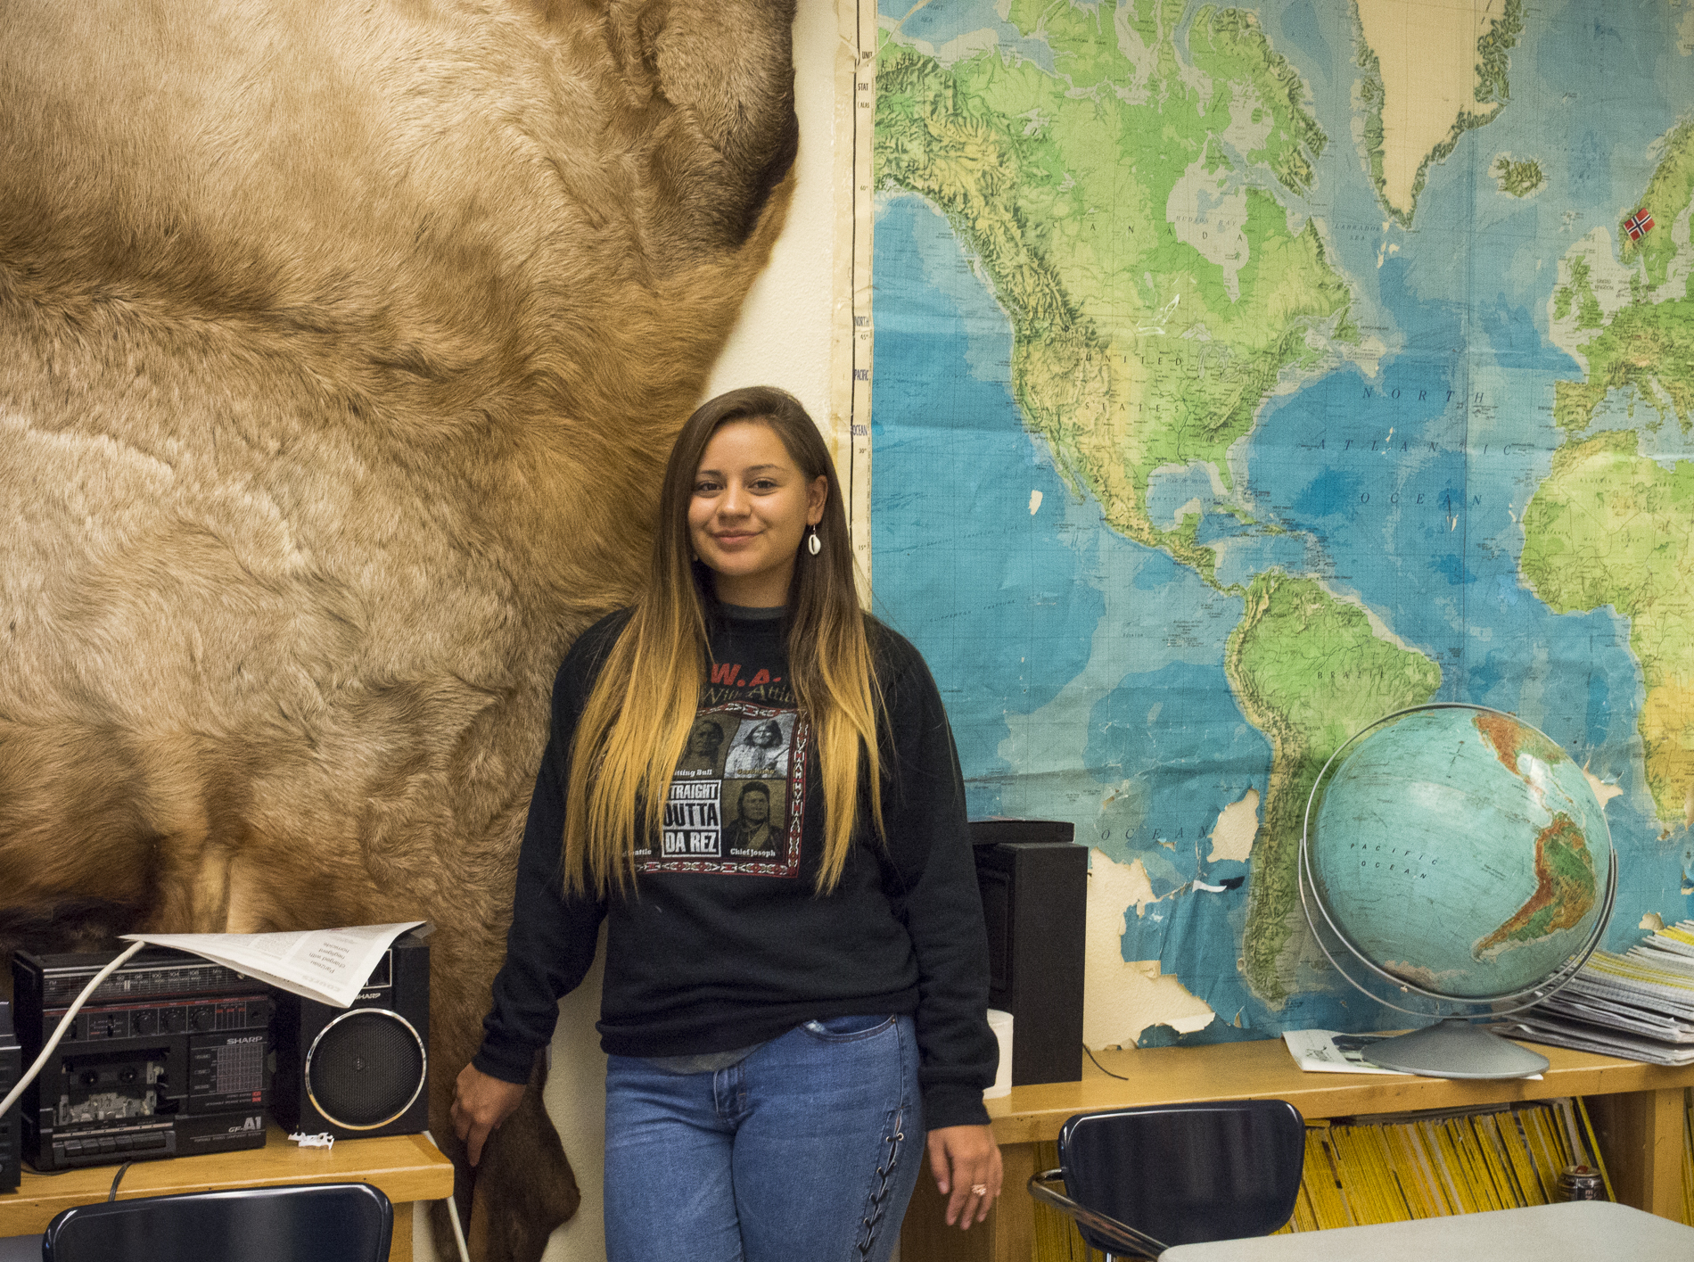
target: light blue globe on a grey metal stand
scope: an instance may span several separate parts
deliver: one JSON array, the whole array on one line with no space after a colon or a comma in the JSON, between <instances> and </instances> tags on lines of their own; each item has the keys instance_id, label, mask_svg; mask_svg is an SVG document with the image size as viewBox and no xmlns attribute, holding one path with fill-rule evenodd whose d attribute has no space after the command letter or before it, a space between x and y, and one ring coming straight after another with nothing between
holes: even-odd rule
<instances>
[{"instance_id":1,"label":"light blue globe on a grey metal stand","mask_svg":"<svg viewBox=\"0 0 1694 1262\"><path fill-rule=\"evenodd\" d=\"M1306 806L1301 899L1330 962L1438 1027L1370 1059L1442 1077L1521 1077L1547 1059L1474 1025L1552 994L1599 944L1616 896L1587 774L1513 715L1428 705L1370 723Z\"/></svg>"}]
</instances>

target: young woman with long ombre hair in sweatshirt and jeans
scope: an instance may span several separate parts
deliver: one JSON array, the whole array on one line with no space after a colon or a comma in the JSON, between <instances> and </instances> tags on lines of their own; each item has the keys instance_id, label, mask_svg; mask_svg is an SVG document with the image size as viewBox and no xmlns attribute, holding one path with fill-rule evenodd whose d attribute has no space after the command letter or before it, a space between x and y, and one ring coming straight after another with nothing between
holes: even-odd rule
<instances>
[{"instance_id":1,"label":"young woman with long ombre hair in sweatshirt and jeans","mask_svg":"<svg viewBox=\"0 0 1694 1262\"><path fill-rule=\"evenodd\" d=\"M722 742L691 739L703 723ZM764 766L727 766L772 732ZM473 1165L601 920L610 1262L886 1259L925 1132L947 1221L988 1215L996 1045L959 761L918 652L859 608L833 464L779 390L688 420L647 591L559 667L452 1108Z\"/></svg>"}]
</instances>

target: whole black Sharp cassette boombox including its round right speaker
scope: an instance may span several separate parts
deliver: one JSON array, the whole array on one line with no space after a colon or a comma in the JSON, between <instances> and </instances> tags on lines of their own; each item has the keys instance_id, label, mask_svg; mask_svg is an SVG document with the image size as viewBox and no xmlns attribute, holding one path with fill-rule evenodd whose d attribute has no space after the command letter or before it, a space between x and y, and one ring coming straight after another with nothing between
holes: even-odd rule
<instances>
[{"instance_id":1,"label":"whole black Sharp cassette boombox including its round right speaker","mask_svg":"<svg viewBox=\"0 0 1694 1262\"><path fill-rule=\"evenodd\" d=\"M24 1066L112 959L14 955ZM429 1126L427 1047L429 944L412 933L383 954L351 1008L149 947L100 982L24 1091L14 1111L22 1155L37 1171L63 1171L257 1149L266 1111L290 1132L415 1133ZM0 1038L0 1084L5 1055Z\"/></svg>"}]
</instances>

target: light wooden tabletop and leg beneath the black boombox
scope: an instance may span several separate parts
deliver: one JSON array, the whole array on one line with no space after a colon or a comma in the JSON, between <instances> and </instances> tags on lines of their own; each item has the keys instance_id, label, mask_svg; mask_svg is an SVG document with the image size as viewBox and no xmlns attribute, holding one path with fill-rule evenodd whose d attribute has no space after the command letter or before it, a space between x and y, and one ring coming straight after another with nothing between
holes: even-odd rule
<instances>
[{"instance_id":1,"label":"light wooden tabletop and leg beneath the black boombox","mask_svg":"<svg viewBox=\"0 0 1694 1262\"><path fill-rule=\"evenodd\" d=\"M24 1177L14 1194L0 1196L0 1237L39 1235L61 1209L103 1201L113 1165L93 1165L66 1174ZM390 1262L412 1259L412 1201L437 1201L452 1194L452 1162L422 1135L374 1140L335 1140L334 1149L302 1149L273 1123L263 1149L136 1162L117 1196L173 1196L217 1187L278 1187L298 1182L369 1182L395 1203L395 1237Z\"/></svg>"}]
</instances>

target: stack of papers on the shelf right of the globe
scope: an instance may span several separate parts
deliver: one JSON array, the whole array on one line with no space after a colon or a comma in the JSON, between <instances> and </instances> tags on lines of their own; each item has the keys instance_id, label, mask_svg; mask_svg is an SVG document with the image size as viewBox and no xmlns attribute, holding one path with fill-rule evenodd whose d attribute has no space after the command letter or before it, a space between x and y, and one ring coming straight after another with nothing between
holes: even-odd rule
<instances>
[{"instance_id":1,"label":"stack of papers on the shelf right of the globe","mask_svg":"<svg viewBox=\"0 0 1694 1262\"><path fill-rule=\"evenodd\" d=\"M1557 994L1511 1018L1523 1037L1655 1066L1694 1064L1694 920L1625 955L1596 950Z\"/></svg>"}]
</instances>

